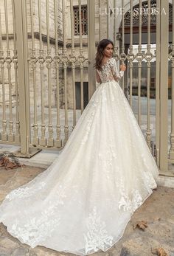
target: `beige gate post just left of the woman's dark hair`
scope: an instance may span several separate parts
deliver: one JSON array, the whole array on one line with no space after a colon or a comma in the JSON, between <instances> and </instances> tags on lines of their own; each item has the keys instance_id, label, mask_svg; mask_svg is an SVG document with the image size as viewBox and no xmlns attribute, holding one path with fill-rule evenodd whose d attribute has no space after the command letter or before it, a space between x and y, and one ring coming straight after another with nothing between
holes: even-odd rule
<instances>
[{"instance_id":1,"label":"beige gate post just left of the woman's dark hair","mask_svg":"<svg viewBox=\"0 0 174 256\"><path fill-rule=\"evenodd\" d=\"M96 88L95 81L95 1L88 0L88 96L91 99Z\"/></svg>"}]
</instances>

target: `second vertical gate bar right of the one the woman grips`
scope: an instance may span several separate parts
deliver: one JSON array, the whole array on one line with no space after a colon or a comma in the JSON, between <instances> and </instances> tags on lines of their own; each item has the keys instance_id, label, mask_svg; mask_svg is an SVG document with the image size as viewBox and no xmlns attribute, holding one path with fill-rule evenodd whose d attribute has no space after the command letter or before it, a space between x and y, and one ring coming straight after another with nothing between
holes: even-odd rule
<instances>
[{"instance_id":1,"label":"second vertical gate bar right of the one the woman grips","mask_svg":"<svg viewBox=\"0 0 174 256\"><path fill-rule=\"evenodd\" d=\"M142 10L142 0L139 0L139 10ZM138 123L141 125L141 78L142 78L142 12L139 12L139 52L138 52Z\"/></svg>"}]
</instances>

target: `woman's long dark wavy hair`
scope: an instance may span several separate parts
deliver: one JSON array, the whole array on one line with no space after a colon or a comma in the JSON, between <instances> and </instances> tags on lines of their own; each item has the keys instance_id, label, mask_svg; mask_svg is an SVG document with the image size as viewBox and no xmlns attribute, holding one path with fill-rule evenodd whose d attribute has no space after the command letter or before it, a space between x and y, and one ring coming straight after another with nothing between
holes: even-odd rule
<instances>
[{"instance_id":1,"label":"woman's long dark wavy hair","mask_svg":"<svg viewBox=\"0 0 174 256\"><path fill-rule=\"evenodd\" d=\"M114 47L114 43L109 39L102 39L97 46L94 67L98 70L102 69L102 58L104 57L103 51L108 44L112 44L112 46Z\"/></svg>"}]
</instances>

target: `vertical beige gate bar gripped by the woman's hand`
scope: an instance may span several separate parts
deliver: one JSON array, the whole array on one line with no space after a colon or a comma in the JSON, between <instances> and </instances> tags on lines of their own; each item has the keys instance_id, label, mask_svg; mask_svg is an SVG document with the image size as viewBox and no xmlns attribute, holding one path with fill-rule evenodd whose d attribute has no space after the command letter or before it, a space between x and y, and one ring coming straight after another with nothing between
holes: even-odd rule
<instances>
[{"instance_id":1,"label":"vertical beige gate bar gripped by the woman's hand","mask_svg":"<svg viewBox=\"0 0 174 256\"><path fill-rule=\"evenodd\" d=\"M124 4L125 1L122 0L122 49L121 49L121 63L124 63L124 55L125 55L125 12L124 12ZM125 79L122 77L122 90L125 91Z\"/></svg>"}]
</instances>

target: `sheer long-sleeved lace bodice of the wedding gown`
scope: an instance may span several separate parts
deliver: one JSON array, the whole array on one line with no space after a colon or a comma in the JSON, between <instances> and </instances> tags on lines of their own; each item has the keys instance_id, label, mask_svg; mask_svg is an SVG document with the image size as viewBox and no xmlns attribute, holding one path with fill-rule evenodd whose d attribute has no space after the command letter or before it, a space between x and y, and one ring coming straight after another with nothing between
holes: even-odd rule
<instances>
[{"instance_id":1,"label":"sheer long-sleeved lace bodice of the wedding gown","mask_svg":"<svg viewBox=\"0 0 174 256\"><path fill-rule=\"evenodd\" d=\"M119 80L124 72L120 71L118 72L117 66L116 66L116 60L114 58L109 58L104 65L102 65L102 69L98 70L97 72L100 76L100 80L102 83L111 82L113 80Z\"/></svg>"}]
</instances>

